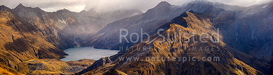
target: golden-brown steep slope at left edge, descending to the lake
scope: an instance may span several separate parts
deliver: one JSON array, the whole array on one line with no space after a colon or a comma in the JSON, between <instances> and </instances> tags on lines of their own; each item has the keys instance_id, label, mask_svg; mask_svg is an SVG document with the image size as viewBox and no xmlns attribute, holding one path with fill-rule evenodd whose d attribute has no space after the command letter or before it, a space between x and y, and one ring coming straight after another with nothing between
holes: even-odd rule
<instances>
[{"instance_id":1,"label":"golden-brown steep slope at left edge, descending to the lake","mask_svg":"<svg viewBox=\"0 0 273 75\"><path fill-rule=\"evenodd\" d=\"M1 65L17 69L18 63L30 59L59 59L67 55L4 5L0 6L0 29Z\"/></svg>"}]
</instances>

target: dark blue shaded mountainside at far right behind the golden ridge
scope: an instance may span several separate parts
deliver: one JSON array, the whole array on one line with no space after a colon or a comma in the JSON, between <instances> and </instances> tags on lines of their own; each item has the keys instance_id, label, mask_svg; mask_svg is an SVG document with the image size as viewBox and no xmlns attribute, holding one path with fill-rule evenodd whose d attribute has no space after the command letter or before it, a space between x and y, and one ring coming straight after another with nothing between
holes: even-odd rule
<instances>
[{"instance_id":1,"label":"dark blue shaded mountainside at far right behind the golden ridge","mask_svg":"<svg viewBox=\"0 0 273 75\"><path fill-rule=\"evenodd\" d=\"M231 47L272 61L273 1L227 12L213 19L222 31L223 41ZM229 19L228 19L229 18Z\"/></svg>"}]
</instances>

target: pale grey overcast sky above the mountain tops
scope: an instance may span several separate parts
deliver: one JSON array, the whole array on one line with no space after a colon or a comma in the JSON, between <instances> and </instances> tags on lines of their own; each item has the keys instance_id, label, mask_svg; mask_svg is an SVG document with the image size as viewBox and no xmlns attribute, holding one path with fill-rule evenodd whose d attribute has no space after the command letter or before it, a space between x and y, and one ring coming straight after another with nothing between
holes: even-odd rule
<instances>
[{"instance_id":1,"label":"pale grey overcast sky above the mountain tops","mask_svg":"<svg viewBox=\"0 0 273 75\"><path fill-rule=\"evenodd\" d=\"M94 8L97 11L110 11L116 9L138 9L142 12L154 7L162 0L0 0L0 5L15 8L19 3L24 6L40 7L45 11L68 9L74 12ZM164 1L164 0L163 0ZM165 0L174 5L182 5L192 0ZM226 4L250 6L270 0L209 0Z\"/></svg>"}]
</instances>

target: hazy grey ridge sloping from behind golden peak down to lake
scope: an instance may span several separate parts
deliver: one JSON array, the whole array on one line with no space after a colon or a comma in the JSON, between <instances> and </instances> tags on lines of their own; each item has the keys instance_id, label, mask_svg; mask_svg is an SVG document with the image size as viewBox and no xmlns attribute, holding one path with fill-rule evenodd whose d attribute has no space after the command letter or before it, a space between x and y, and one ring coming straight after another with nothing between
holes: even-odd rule
<instances>
[{"instance_id":1,"label":"hazy grey ridge sloping from behind golden peak down to lake","mask_svg":"<svg viewBox=\"0 0 273 75\"><path fill-rule=\"evenodd\" d=\"M120 43L120 29L127 29L129 34L140 34L140 30L142 28L143 32L154 34L157 32L156 29L159 28L159 26L167 23L185 11L194 10L197 12L205 12L212 6L213 5L202 1L192 2L182 6L171 5L166 1L162 1L154 8L149 9L147 12L141 15L118 20L108 24L95 35L90 36L90 38L83 39L81 45L115 50L119 50L120 47L130 47L136 43L127 43L126 40L123 40L122 43ZM127 38L129 38L129 36L127 36ZM147 36L144 35L143 39L146 37ZM136 40L136 37L133 37L132 39Z\"/></svg>"}]
</instances>

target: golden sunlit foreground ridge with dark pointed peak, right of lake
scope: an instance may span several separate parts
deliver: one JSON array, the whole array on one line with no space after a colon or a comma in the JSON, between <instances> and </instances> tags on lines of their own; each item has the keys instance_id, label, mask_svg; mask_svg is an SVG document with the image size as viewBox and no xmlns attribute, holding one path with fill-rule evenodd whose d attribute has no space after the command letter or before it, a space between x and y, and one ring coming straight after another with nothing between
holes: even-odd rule
<instances>
[{"instance_id":1,"label":"golden sunlit foreground ridge with dark pointed peak, right of lake","mask_svg":"<svg viewBox=\"0 0 273 75\"><path fill-rule=\"evenodd\" d=\"M192 13L191 13L192 12ZM171 22L177 22L177 24L166 23L163 27L166 27L166 31L162 35L169 40L158 37L158 35L153 35L154 38L149 43L137 43L134 47L130 47L129 50L124 50L119 52L119 54L111 56L110 59L114 62L102 65L90 72L85 73L85 75L100 75L106 73L108 70L117 69L129 75L202 75L202 74L214 74L214 75L261 75L270 74L269 66L265 62L258 60L255 57L242 58L241 56L249 56L242 52L238 52L235 49L229 47L221 40L219 43L212 42L211 40L221 39L221 35L217 37L216 35L209 35L210 38L203 38L203 41L208 41L202 43L198 38L204 37L202 33L214 34L217 32L211 18L207 15L202 15L201 13L196 13L194 11L185 12L179 17L176 17ZM179 38L179 33L181 35L195 31L195 34L188 34L186 37ZM188 40L190 38L190 41ZM193 39L197 40L198 43L194 42ZM159 42L165 40L165 42ZM182 41L182 42L180 42ZM184 42L189 41L189 42ZM147 50L145 47L150 46ZM205 47L209 48L206 51ZM139 47L139 48L136 48ZM193 48L197 47L197 51ZM200 50L203 48L203 50ZM236 56L235 56L236 55ZM166 58L165 61L157 61L156 57L170 57ZM124 59L123 61L120 57L139 57L138 61L129 59ZM155 57L155 61L148 60ZM173 57L196 57L198 60L202 60L202 57L219 57L219 61L172 61ZM238 58L241 57L241 58ZM253 60L244 61L244 60ZM93 64L94 65L94 64ZM267 68L267 71L263 69ZM261 72L263 71L263 72Z\"/></svg>"}]
</instances>

